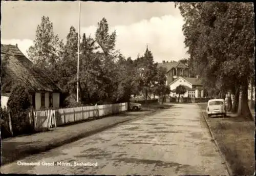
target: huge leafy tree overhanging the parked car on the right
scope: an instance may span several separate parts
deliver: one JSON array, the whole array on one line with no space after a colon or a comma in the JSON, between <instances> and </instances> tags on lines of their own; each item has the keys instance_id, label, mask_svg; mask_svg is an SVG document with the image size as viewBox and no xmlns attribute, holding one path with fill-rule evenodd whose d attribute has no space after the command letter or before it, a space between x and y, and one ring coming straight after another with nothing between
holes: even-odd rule
<instances>
[{"instance_id":1,"label":"huge leafy tree overhanging the parked car on the right","mask_svg":"<svg viewBox=\"0 0 256 176\"><path fill-rule=\"evenodd\" d=\"M241 90L239 115L251 117L247 94L254 65L253 5L235 2L176 5L185 19L184 42L195 72L220 93Z\"/></svg>"}]
</instances>

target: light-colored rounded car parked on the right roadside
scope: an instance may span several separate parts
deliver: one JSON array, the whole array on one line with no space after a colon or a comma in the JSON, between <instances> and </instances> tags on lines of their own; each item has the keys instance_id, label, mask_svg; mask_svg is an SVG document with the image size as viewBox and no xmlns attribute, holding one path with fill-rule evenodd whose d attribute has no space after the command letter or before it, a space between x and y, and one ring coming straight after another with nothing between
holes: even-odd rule
<instances>
[{"instance_id":1,"label":"light-colored rounded car parked on the right roadside","mask_svg":"<svg viewBox=\"0 0 256 176\"><path fill-rule=\"evenodd\" d=\"M227 107L225 105L225 100L223 99L211 99L207 103L206 113L208 117L212 115L227 115Z\"/></svg>"}]
</instances>

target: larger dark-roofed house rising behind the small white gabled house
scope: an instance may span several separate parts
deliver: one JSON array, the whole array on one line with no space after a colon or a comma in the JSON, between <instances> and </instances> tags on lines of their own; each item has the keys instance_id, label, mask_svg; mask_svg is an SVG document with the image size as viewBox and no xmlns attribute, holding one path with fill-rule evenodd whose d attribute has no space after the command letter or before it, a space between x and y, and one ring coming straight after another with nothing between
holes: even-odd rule
<instances>
[{"instance_id":1,"label":"larger dark-roofed house rising behind the small white gabled house","mask_svg":"<svg viewBox=\"0 0 256 176\"><path fill-rule=\"evenodd\" d=\"M183 77L190 77L189 74L189 68L186 64L182 62L165 62L158 63L158 67L166 68L167 74L166 74L166 85L169 85L171 82L173 82L175 79L177 79L179 76Z\"/></svg>"}]
</instances>

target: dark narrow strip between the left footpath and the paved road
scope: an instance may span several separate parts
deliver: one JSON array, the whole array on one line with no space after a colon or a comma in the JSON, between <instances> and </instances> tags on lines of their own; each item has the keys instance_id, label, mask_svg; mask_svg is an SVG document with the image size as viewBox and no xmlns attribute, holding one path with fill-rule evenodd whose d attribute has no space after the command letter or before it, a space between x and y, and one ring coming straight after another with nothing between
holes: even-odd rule
<instances>
[{"instance_id":1,"label":"dark narrow strip between the left footpath and the paved road","mask_svg":"<svg viewBox=\"0 0 256 176\"><path fill-rule=\"evenodd\" d=\"M110 125L106 125L106 126L103 126L103 127L97 128L97 129L84 131L83 133L71 136L70 138L67 138L63 141L50 142L50 143L48 143L46 145L42 145L40 147L28 147L28 148L25 148L24 150L16 149L15 152L19 153L18 156L13 156L11 159L8 159L5 162L3 162L3 156L2 156L1 157L1 166L4 166L4 165L7 165L9 163L15 162L17 160L23 159L23 158L28 157L30 155L35 155L35 154L38 154L40 152L49 151L51 149L60 147L62 145L66 145L66 144L75 142L75 141L80 140L82 138L86 138L86 137L92 136L94 134L100 133L103 130L115 127L115 126L117 126L121 123L129 122L129 121L141 118L143 116L148 116L148 115L154 114L158 111L158 109L152 109L152 108L149 108L149 109L151 111L149 113L145 113L145 114L141 114L141 115L130 115L131 118L129 118L129 119L124 119L124 120L121 120L119 122L116 122L116 123L113 123L113 124L110 124Z\"/></svg>"}]
</instances>

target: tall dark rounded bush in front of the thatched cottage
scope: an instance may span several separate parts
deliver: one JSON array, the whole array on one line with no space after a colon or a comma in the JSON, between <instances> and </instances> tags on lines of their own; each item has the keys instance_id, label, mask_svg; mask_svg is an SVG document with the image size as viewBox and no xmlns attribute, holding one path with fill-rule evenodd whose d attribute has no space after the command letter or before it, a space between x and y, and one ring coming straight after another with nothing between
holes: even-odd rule
<instances>
[{"instance_id":1,"label":"tall dark rounded bush in front of the thatched cottage","mask_svg":"<svg viewBox=\"0 0 256 176\"><path fill-rule=\"evenodd\" d=\"M14 136L31 133L32 127L29 123L30 106L31 104L28 91L23 85L16 85L7 102L8 110L11 113Z\"/></svg>"}]
</instances>

